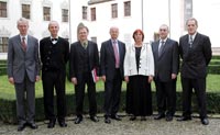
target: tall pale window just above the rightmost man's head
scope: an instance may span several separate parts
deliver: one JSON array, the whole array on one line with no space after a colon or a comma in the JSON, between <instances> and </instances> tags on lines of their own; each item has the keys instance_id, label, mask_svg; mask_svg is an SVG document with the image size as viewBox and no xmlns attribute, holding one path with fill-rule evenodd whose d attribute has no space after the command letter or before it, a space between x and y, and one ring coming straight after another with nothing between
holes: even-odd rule
<instances>
[{"instance_id":1,"label":"tall pale window just above the rightmost man's head","mask_svg":"<svg viewBox=\"0 0 220 135\"><path fill-rule=\"evenodd\" d=\"M185 3L184 3L184 22L186 22L191 16L193 16L193 0L185 0ZM186 25L185 25L185 30L187 30Z\"/></svg>"}]
</instances>

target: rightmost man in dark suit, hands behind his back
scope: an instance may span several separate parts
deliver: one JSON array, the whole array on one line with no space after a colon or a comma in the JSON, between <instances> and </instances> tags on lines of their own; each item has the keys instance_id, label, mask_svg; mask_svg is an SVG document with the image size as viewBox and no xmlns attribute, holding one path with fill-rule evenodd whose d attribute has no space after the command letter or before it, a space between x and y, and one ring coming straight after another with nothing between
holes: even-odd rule
<instances>
[{"instance_id":1,"label":"rightmost man in dark suit, hands behind his back","mask_svg":"<svg viewBox=\"0 0 220 135\"><path fill-rule=\"evenodd\" d=\"M188 34L179 38L179 54L182 64L183 87L183 116L178 121L191 120L191 93L193 89L197 95L199 115L201 123L208 125L206 109L206 77L207 67L211 60L211 43L208 36L197 32L196 19L186 22Z\"/></svg>"}]
</instances>

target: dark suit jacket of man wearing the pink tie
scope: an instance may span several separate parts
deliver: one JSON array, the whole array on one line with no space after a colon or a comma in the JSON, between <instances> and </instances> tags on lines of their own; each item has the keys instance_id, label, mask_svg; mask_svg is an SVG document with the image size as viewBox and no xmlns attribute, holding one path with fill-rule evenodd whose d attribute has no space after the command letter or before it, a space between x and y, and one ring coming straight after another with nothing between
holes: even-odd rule
<instances>
[{"instance_id":1,"label":"dark suit jacket of man wearing the pink tie","mask_svg":"<svg viewBox=\"0 0 220 135\"><path fill-rule=\"evenodd\" d=\"M125 55L125 44L118 41L119 57L120 57L120 74L123 79L123 61ZM116 58L114 50L111 40L106 41L101 44L101 56L100 56L101 70L100 75L106 76L108 80L112 80L116 71Z\"/></svg>"}]
</instances>

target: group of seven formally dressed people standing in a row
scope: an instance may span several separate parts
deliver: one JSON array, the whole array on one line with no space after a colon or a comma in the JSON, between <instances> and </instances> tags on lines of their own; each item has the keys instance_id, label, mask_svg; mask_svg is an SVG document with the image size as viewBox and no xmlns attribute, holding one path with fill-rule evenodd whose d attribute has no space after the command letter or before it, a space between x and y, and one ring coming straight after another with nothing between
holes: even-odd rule
<instances>
[{"instance_id":1,"label":"group of seven formally dressed people standing in a row","mask_svg":"<svg viewBox=\"0 0 220 135\"><path fill-rule=\"evenodd\" d=\"M58 122L66 127L65 80L66 64L69 61L69 78L75 86L76 119L75 124L84 120L85 89L88 91L89 116L98 122L96 82L105 82L105 123L121 121L120 108L122 81L127 82L125 112L134 121L153 114L151 82L155 82L158 114L154 117L172 121L176 111L176 80L180 67L183 87L183 116L177 121L191 120L193 89L197 95L200 120L208 125L206 109L206 76L211 59L211 43L208 36L197 32L198 22L190 18L186 22L188 34L179 43L168 37L168 26L160 26L160 40L152 44L144 43L142 30L133 32L134 43L125 45L118 40L119 29L110 27L110 40L98 45L88 40L87 26L77 30L78 41L69 43L58 36L59 25L56 21L48 23L51 36L38 42L28 35L29 21L18 21L20 34L9 40L8 77L14 85L16 95L18 131L25 126L37 128L35 116L35 82L40 80L42 69L44 112L48 120L47 127L53 128ZM40 49L38 49L40 48ZM180 57L180 58L179 58ZM41 68L42 65L42 68ZM54 111L54 89L56 92L57 114Z\"/></svg>"}]
</instances>

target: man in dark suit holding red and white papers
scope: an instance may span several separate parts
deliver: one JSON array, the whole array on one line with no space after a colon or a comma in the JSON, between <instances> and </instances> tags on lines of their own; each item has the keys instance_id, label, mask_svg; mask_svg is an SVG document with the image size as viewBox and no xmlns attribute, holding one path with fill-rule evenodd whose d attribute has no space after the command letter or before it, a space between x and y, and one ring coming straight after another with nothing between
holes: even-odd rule
<instances>
[{"instance_id":1,"label":"man in dark suit holding red and white papers","mask_svg":"<svg viewBox=\"0 0 220 135\"><path fill-rule=\"evenodd\" d=\"M82 106L85 97L85 87L88 88L89 115L90 120L98 122L97 102L96 102L96 81L98 81L99 53L96 43L88 41L88 27L78 29L78 42L70 46L69 76L75 85L76 94L76 120L75 124L82 121Z\"/></svg>"}]
</instances>

